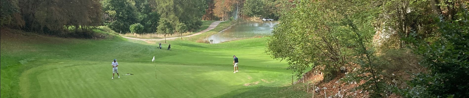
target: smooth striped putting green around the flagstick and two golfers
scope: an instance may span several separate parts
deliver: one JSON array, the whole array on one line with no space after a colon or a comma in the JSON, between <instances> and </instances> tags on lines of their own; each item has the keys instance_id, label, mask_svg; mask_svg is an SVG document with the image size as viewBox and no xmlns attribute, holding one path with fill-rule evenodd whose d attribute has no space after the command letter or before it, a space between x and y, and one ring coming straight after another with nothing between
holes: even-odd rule
<instances>
[{"instance_id":1,"label":"smooth striped putting green around the flagstick and two golfers","mask_svg":"<svg viewBox=\"0 0 469 98\"><path fill-rule=\"evenodd\" d=\"M109 64L93 63L62 62L30 69L23 74L30 78L20 81L36 81L37 85L31 86L38 87L25 87L33 89L22 93L32 94L27 98L212 98L262 79L256 70L234 74L227 67L167 64L156 65L155 76L151 63L126 62L120 63L120 74L134 75L111 79Z\"/></svg>"}]
</instances>

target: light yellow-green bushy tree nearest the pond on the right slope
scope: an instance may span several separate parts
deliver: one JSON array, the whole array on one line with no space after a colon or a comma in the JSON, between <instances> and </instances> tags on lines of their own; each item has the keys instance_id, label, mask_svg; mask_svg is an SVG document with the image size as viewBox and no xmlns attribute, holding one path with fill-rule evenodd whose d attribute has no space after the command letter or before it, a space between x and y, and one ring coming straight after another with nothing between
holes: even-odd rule
<instances>
[{"instance_id":1,"label":"light yellow-green bushy tree nearest the pond on the right slope","mask_svg":"<svg viewBox=\"0 0 469 98\"><path fill-rule=\"evenodd\" d=\"M341 16L322 3L302 1L280 18L280 25L268 39L266 52L274 59L288 62L288 69L298 76L311 67L323 69L324 81L339 74L350 51L347 47L354 36L341 26ZM348 31L345 31L348 30Z\"/></svg>"}]
</instances>

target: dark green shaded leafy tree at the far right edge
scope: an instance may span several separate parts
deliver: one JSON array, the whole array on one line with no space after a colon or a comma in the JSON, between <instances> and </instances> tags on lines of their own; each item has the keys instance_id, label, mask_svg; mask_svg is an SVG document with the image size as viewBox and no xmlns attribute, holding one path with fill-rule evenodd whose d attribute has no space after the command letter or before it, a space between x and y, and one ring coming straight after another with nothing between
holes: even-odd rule
<instances>
[{"instance_id":1,"label":"dark green shaded leafy tree at the far right edge","mask_svg":"<svg viewBox=\"0 0 469 98\"><path fill-rule=\"evenodd\" d=\"M403 38L416 54L424 57L421 64L429 72L421 72L410 82L410 89L400 92L406 98L465 98L469 96L469 13L461 4L457 14L448 19L440 15L435 19L438 40L428 41L415 31ZM416 92L418 91L418 92ZM413 93L407 93L413 92ZM421 93L420 95L418 93Z\"/></svg>"}]
</instances>

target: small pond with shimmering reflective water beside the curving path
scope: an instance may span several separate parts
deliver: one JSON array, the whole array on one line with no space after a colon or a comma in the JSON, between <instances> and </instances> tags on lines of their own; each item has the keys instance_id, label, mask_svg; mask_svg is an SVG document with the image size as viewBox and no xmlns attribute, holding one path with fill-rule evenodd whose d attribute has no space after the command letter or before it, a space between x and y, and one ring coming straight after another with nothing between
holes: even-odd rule
<instances>
[{"instance_id":1,"label":"small pond with shimmering reflective water beside the curving path","mask_svg":"<svg viewBox=\"0 0 469 98\"><path fill-rule=\"evenodd\" d=\"M213 43L221 43L255 36L272 35L272 30L277 27L277 24L279 24L277 21L238 23L221 33L208 37L207 40L213 39Z\"/></svg>"}]
</instances>

